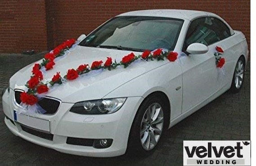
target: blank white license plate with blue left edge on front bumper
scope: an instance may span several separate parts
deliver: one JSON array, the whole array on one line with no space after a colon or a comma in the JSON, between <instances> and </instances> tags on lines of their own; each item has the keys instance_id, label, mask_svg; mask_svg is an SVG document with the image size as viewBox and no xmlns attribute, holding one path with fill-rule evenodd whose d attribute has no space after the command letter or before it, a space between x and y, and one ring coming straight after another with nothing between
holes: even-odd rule
<instances>
[{"instance_id":1,"label":"blank white license plate with blue left edge on front bumper","mask_svg":"<svg viewBox=\"0 0 256 166\"><path fill-rule=\"evenodd\" d=\"M18 123L22 123L28 127L39 129L45 132L50 132L50 121L40 118L35 118L22 113L13 111L14 120Z\"/></svg>"}]
</instances>

